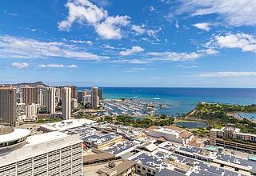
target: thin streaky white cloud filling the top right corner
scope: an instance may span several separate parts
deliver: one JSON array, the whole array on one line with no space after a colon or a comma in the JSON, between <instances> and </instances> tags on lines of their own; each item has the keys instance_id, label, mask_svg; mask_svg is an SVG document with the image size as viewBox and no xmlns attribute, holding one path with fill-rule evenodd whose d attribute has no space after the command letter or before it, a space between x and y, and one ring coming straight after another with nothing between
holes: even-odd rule
<instances>
[{"instance_id":1,"label":"thin streaky white cloud filling the top right corner","mask_svg":"<svg viewBox=\"0 0 256 176\"><path fill-rule=\"evenodd\" d=\"M256 26L256 1L254 0L180 0L178 14L192 16L218 14L229 26Z\"/></svg>"}]
</instances>

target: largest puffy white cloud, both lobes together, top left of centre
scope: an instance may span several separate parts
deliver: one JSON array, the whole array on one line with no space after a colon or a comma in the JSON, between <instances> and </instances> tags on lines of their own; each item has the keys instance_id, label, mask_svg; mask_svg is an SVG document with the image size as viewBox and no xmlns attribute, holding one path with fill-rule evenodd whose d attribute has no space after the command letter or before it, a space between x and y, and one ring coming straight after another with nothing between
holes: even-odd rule
<instances>
[{"instance_id":1,"label":"largest puffy white cloud, both lobes together, top left of centre","mask_svg":"<svg viewBox=\"0 0 256 176\"><path fill-rule=\"evenodd\" d=\"M109 16L106 10L99 8L88 0L66 2L69 15L58 23L59 30L70 30L74 22L94 26L96 33L104 39L122 38L122 26L130 23L128 16Z\"/></svg>"}]
</instances>

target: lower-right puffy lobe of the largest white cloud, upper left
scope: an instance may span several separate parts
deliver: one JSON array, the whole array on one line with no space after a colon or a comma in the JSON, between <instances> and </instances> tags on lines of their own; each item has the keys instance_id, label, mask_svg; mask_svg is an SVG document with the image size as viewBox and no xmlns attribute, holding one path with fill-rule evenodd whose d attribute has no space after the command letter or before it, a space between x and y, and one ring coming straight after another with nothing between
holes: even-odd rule
<instances>
[{"instance_id":1,"label":"lower-right puffy lobe of the largest white cloud, upper left","mask_svg":"<svg viewBox=\"0 0 256 176\"><path fill-rule=\"evenodd\" d=\"M128 16L107 17L104 22L95 25L95 30L104 39L120 39L122 38L120 27L127 26L129 23Z\"/></svg>"}]
</instances>

